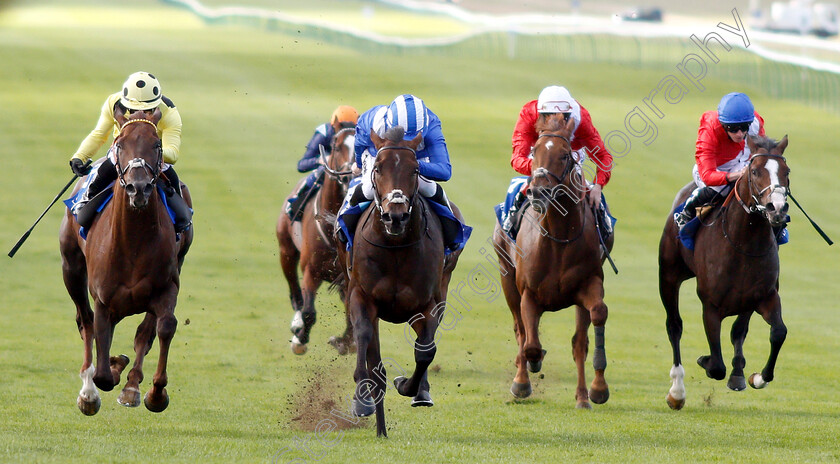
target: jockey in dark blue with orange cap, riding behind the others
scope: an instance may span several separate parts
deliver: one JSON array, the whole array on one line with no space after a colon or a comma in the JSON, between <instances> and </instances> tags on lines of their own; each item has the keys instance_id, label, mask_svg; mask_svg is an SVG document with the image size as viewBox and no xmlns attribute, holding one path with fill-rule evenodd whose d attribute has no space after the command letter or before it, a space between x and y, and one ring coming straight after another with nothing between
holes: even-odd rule
<instances>
[{"instance_id":1,"label":"jockey in dark blue with orange cap, riding behind the others","mask_svg":"<svg viewBox=\"0 0 840 464\"><path fill-rule=\"evenodd\" d=\"M309 172L313 169L315 171L306 177L306 180L286 205L286 213L293 221L300 220L307 200L312 198L321 187L324 167L321 165L320 147L324 147L324 151L329 155L332 151L332 141L335 135L342 129L356 127L358 120L359 113L355 108L341 105L333 111L330 122L315 128L315 133L306 145L303 157L298 161L298 172Z\"/></svg>"}]
</instances>

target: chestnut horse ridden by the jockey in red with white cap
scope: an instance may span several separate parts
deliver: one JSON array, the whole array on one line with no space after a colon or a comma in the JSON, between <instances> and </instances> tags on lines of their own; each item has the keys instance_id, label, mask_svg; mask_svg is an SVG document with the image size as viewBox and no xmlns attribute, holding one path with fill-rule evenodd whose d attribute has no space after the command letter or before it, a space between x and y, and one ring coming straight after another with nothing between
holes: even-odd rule
<instances>
[{"instance_id":1,"label":"chestnut horse ridden by the jockey in red with white cap","mask_svg":"<svg viewBox=\"0 0 840 464\"><path fill-rule=\"evenodd\" d=\"M575 391L578 408L591 409L589 400L602 404L609 398L604 379L607 365L604 351L604 253L596 230L595 215L586 207L586 187L572 155L570 138L574 120L550 116L537 126L533 174L524 210L523 227L517 241L511 241L496 224L494 244L499 256L502 289L513 314L519 345L516 376L511 393L517 398L531 395L528 370L539 372L545 350L539 339L540 317L575 305L576 328L572 354L577 365ZM525 227L525 224L531 227ZM606 241L612 249L613 236ZM589 324L595 326L595 379L586 390L584 362L589 351Z\"/></svg>"}]
</instances>

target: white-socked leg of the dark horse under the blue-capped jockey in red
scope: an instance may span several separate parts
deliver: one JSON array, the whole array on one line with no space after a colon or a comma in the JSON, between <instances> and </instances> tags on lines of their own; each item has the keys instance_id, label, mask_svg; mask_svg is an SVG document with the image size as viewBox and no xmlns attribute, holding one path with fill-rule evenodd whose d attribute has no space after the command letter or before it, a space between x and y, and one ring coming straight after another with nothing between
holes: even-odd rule
<instances>
[{"instance_id":1,"label":"white-socked leg of the dark horse under the blue-capped jockey in red","mask_svg":"<svg viewBox=\"0 0 840 464\"><path fill-rule=\"evenodd\" d=\"M661 259L660 259L661 261ZM665 330L668 341L671 342L674 364L671 366L671 389L665 398L671 409L680 410L685 406L685 369L682 366L680 354L680 339L682 338L683 322L680 317L680 286L682 281L677 279L669 266L660 263L659 267L659 298L665 307Z\"/></svg>"}]
</instances>

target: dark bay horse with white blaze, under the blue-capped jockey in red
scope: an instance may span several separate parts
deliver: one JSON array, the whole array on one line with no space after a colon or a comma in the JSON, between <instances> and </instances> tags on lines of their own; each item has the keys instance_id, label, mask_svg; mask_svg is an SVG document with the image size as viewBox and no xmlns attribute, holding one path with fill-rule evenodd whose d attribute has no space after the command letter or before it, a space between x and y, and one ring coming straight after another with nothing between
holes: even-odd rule
<instances>
[{"instance_id":1,"label":"dark bay horse with white blaze, under the blue-capped jockey in red","mask_svg":"<svg viewBox=\"0 0 840 464\"><path fill-rule=\"evenodd\" d=\"M697 278L697 296L703 304L703 325L710 354L697 363L715 380L726 377L720 348L720 326L725 317L736 316L730 338L735 348L732 373L727 386L744 390L744 340L753 312L770 325L770 357L760 374L749 384L763 388L773 380L776 359L787 335L779 299L779 252L773 227L787 221L790 181L783 156L787 136L778 143L765 137L748 137L753 153L744 175L735 183L724 205L704 219L695 236L694 251L677 237L673 213L668 215L659 243L659 294L665 306L668 339L674 353L671 389L667 396L672 409L685 405L685 369L680 357L682 318L679 290L685 280ZM673 209L688 198L694 183L684 187Z\"/></svg>"}]
</instances>

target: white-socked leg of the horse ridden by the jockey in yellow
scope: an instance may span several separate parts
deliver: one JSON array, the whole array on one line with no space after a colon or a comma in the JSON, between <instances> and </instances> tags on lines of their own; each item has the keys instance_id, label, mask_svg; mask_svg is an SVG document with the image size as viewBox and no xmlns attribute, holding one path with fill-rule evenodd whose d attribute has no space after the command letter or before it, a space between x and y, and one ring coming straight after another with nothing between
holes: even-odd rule
<instances>
[{"instance_id":1,"label":"white-socked leg of the horse ridden by the jockey in yellow","mask_svg":"<svg viewBox=\"0 0 840 464\"><path fill-rule=\"evenodd\" d=\"M65 232L68 227L67 219L62 223L61 248L61 270L64 276L64 286L67 293L76 305L76 326L79 328L79 335L84 344L84 359L79 377L82 378L82 389L76 404L79 410L92 416L99 412L102 400L96 385L93 383L93 311L90 309L87 290L87 268L85 256L82 253L76 238L72 236L73 231Z\"/></svg>"}]
</instances>

